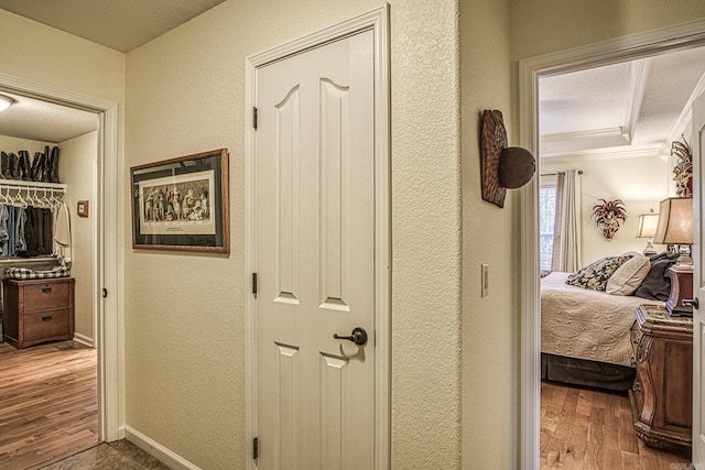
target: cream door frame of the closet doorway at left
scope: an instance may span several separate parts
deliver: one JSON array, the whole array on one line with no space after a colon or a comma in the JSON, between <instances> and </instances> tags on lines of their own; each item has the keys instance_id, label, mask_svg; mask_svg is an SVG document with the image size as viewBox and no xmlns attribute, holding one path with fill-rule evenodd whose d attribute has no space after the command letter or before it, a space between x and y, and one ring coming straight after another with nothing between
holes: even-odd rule
<instances>
[{"instance_id":1,"label":"cream door frame of the closet doorway at left","mask_svg":"<svg viewBox=\"0 0 705 470\"><path fill-rule=\"evenodd\" d=\"M0 89L68 108L94 112L98 118L97 172L94 174L94 346L98 350L98 438L118 440L118 105L100 98L53 88L0 74ZM110 177L106 177L111 175ZM112 293L107 297L102 289Z\"/></svg>"}]
</instances>

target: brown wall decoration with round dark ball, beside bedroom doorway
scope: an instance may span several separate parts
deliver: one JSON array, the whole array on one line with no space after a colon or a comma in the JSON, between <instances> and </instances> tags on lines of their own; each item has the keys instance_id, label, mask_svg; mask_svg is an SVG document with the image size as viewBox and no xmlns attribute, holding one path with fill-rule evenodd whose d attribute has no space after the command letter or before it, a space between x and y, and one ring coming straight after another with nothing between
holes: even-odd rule
<instances>
[{"instance_id":1,"label":"brown wall decoration with round dark ball, beside bedroom doorway","mask_svg":"<svg viewBox=\"0 0 705 470\"><path fill-rule=\"evenodd\" d=\"M482 111L480 133L482 199L505 207L507 189L522 187L531 181L536 162L525 149L507 146L507 130L502 113Z\"/></svg>"}]
</instances>

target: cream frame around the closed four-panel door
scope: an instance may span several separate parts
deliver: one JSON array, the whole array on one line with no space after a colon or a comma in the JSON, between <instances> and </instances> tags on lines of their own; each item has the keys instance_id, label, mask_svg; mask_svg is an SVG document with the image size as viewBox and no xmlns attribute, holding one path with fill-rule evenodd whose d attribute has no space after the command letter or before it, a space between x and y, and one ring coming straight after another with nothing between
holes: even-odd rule
<instances>
[{"instance_id":1,"label":"cream frame around the closed four-panel door","mask_svg":"<svg viewBox=\"0 0 705 470\"><path fill-rule=\"evenodd\" d=\"M257 324L251 273L257 272L256 140L253 108L257 103L257 69L274 61L302 53L354 33L371 30L375 35L375 468L390 467L390 62L389 4L319 32L246 58L245 85L245 354L246 442L257 437ZM256 469L251 446L246 445L248 469Z\"/></svg>"}]
</instances>

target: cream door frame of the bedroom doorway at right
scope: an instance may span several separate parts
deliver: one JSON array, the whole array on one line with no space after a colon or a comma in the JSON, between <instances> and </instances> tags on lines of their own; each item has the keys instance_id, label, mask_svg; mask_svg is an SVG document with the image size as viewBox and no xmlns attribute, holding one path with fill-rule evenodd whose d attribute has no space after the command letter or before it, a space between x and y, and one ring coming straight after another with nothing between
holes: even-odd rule
<instances>
[{"instance_id":1,"label":"cream door frame of the bedroom doorway at right","mask_svg":"<svg viewBox=\"0 0 705 470\"><path fill-rule=\"evenodd\" d=\"M705 20L662 28L519 62L519 142L539 155L539 77L705 45ZM693 99L691 97L691 99ZM540 174L540 159L536 159ZM697 177L697 176L695 176ZM521 189L521 425L522 469L539 468L541 426L541 305L539 187Z\"/></svg>"}]
</instances>

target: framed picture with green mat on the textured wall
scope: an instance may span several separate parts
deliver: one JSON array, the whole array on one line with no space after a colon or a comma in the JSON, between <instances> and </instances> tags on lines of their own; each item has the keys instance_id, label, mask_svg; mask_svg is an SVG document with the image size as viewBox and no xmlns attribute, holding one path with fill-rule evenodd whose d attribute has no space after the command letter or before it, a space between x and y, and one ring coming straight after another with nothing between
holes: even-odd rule
<instances>
[{"instance_id":1,"label":"framed picture with green mat on the textured wall","mask_svg":"<svg viewBox=\"0 0 705 470\"><path fill-rule=\"evenodd\" d=\"M230 252L226 149L130 168L132 248Z\"/></svg>"}]
</instances>

